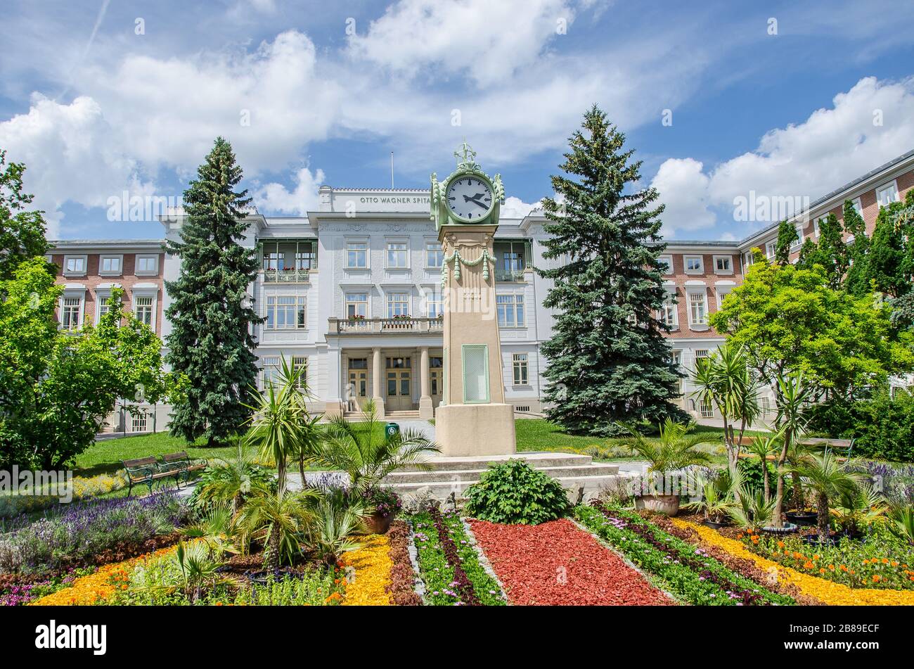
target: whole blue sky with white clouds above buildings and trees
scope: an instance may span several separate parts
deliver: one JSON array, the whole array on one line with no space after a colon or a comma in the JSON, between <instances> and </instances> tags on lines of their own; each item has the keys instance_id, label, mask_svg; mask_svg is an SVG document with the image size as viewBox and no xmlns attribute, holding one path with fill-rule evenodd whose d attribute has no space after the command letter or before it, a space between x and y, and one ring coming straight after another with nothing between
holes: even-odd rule
<instances>
[{"instance_id":1,"label":"whole blue sky with white clouds above buildings and trees","mask_svg":"<svg viewBox=\"0 0 914 669\"><path fill-rule=\"evenodd\" d=\"M110 198L180 197L218 134L268 215L389 186L391 151L396 186L427 186L464 137L523 215L597 102L670 239L741 239L766 221L734 198L814 199L914 148L910 3L5 5L0 148L61 239L160 237Z\"/></svg>"}]
</instances>

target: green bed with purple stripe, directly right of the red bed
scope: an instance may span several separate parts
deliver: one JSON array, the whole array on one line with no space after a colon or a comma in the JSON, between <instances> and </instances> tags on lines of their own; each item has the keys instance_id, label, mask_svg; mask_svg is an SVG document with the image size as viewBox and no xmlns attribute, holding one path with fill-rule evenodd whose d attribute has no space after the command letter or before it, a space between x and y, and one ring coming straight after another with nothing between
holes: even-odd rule
<instances>
[{"instance_id":1,"label":"green bed with purple stripe, directly right of the red bed","mask_svg":"<svg viewBox=\"0 0 914 669\"><path fill-rule=\"evenodd\" d=\"M682 539L671 536L638 515L601 504L579 506L579 521L652 574L664 589L691 604L792 604L732 571Z\"/></svg>"}]
</instances>

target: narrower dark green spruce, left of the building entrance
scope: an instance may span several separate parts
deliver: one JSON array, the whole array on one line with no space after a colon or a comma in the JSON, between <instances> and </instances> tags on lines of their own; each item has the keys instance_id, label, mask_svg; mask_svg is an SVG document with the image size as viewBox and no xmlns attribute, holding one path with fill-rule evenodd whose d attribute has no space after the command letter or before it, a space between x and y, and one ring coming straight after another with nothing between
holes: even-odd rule
<instances>
[{"instance_id":1,"label":"narrower dark green spruce, left of the building entrance","mask_svg":"<svg viewBox=\"0 0 914 669\"><path fill-rule=\"evenodd\" d=\"M165 312L172 323L167 362L188 381L171 431L210 445L242 429L257 378L250 326L260 318L247 290L258 264L255 251L239 244L250 204L247 190L235 190L240 181L231 145L218 137L184 192L181 242L167 242L168 252L181 258L177 280L165 282L172 298Z\"/></svg>"}]
</instances>

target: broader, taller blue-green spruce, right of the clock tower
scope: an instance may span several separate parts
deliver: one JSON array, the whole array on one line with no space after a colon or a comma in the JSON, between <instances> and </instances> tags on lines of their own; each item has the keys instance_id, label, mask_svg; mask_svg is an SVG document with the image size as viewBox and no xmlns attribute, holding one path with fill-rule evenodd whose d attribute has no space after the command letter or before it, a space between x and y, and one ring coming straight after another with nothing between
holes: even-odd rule
<instances>
[{"instance_id":1,"label":"broader, taller blue-green spruce, right of the clock tower","mask_svg":"<svg viewBox=\"0 0 914 669\"><path fill-rule=\"evenodd\" d=\"M617 420L654 425L687 419L670 400L679 372L656 313L666 299L659 255L663 206L654 188L637 190L641 161L594 106L552 176L558 196L543 200L549 238L539 270L554 281L543 304L557 310L542 346L548 365L547 417L572 433L618 434Z\"/></svg>"}]
</instances>

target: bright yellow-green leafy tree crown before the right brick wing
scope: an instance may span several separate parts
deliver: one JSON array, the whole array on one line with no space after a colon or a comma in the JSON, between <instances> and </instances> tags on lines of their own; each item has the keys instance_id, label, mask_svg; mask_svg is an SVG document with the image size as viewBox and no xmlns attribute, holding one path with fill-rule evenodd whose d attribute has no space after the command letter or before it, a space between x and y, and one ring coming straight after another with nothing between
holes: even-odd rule
<instances>
[{"instance_id":1,"label":"bright yellow-green leafy tree crown before the right brick wing","mask_svg":"<svg viewBox=\"0 0 914 669\"><path fill-rule=\"evenodd\" d=\"M760 383L802 371L817 396L849 397L914 364L911 337L889 336L888 307L833 290L818 265L754 263L710 324L745 347Z\"/></svg>"}]
</instances>

